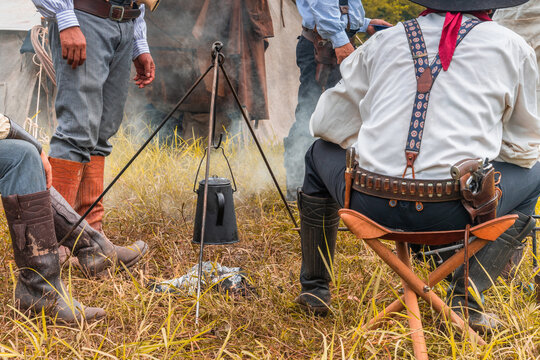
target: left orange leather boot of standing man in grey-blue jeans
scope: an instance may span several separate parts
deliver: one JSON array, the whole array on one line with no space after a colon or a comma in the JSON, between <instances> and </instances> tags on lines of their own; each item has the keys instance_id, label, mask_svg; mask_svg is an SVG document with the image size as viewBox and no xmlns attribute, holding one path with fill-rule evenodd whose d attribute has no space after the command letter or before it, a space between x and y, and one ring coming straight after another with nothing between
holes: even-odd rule
<instances>
[{"instance_id":1,"label":"left orange leather boot of standing man in grey-blue jeans","mask_svg":"<svg viewBox=\"0 0 540 360\"><path fill-rule=\"evenodd\" d=\"M49 157L53 172L53 186L71 205L75 206L81 184L83 163Z\"/></svg>"}]
</instances>

